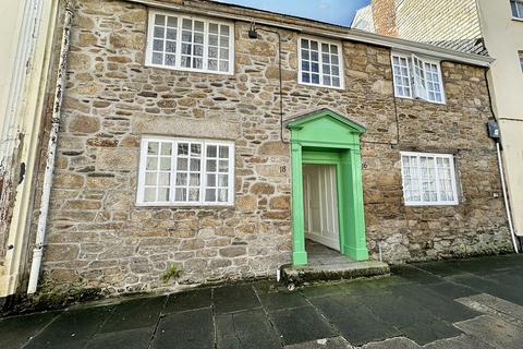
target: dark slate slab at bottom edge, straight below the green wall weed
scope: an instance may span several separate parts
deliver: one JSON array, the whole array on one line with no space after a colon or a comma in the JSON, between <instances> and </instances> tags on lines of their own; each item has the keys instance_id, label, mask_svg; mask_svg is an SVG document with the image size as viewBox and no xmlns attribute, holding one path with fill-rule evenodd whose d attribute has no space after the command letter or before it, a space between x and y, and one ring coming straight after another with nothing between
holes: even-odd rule
<instances>
[{"instance_id":1,"label":"dark slate slab at bottom edge, straight below the green wall weed","mask_svg":"<svg viewBox=\"0 0 523 349\"><path fill-rule=\"evenodd\" d=\"M160 320L151 348L214 349L212 310L206 308L166 315Z\"/></svg>"}]
</instances>

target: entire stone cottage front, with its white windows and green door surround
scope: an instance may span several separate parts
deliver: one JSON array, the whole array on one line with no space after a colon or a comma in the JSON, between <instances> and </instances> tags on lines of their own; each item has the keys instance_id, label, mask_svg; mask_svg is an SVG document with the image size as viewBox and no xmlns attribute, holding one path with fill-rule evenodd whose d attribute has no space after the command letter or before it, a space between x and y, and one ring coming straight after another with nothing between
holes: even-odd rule
<instances>
[{"instance_id":1,"label":"entire stone cottage front, with its white windows and green door surround","mask_svg":"<svg viewBox=\"0 0 523 349\"><path fill-rule=\"evenodd\" d=\"M147 2L73 1L44 290L172 288L161 281L171 263L181 284L273 276L282 264L306 263L293 231L303 221L292 212L314 209L292 200L303 178L293 177L291 153L330 152L294 142L311 125L318 137L336 125L357 130L343 129L354 139L351 185L362 191L361 214L345 215L363 219L356 258L510 250L485 131L485 58L424 56L423 45L411 57L401 40L394 56L338 26L209 1ZM421 98L408 73L414 63L426 64ZM344 200L358 209L350 189ZM341 252L351 255L356 232L346 229Z\"/></svg>"}]
</instances>

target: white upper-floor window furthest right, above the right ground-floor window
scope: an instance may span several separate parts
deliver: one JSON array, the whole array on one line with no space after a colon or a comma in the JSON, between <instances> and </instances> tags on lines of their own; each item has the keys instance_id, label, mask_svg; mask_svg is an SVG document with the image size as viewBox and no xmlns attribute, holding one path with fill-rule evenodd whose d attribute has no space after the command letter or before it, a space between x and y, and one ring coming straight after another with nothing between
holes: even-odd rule
<instances>
[{"instance_id":1,"label":"white upper-floor window furthest right, above the right ground-floor window","mask_svg":"<svg viewBox=\"0 0 523 349\"><path fill-rule=\"evenodd\" d=\"M415 55L392 53L392 72L397 97L445 103L439 62Z\"/></svg>"}]
</instances>

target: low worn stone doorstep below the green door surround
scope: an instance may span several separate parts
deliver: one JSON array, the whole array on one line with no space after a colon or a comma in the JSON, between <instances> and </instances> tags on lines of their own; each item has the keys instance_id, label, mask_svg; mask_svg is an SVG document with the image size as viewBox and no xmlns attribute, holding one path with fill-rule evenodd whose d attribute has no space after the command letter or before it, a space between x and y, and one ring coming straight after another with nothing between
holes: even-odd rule
<instances>
[{"instance_id":1,"label":"low worn stone doorstep below the green door surround","mask_svg":"<svg viewBox=\"0 0 523 349\"><path fill-rule=\"evenodd\" d=\"M333 263L324 265L284 265L281 279L287 285L301 286L305 282L345 280L373 276L388 276L390 267L379 261Z\"/></svg>"}]
</instances>

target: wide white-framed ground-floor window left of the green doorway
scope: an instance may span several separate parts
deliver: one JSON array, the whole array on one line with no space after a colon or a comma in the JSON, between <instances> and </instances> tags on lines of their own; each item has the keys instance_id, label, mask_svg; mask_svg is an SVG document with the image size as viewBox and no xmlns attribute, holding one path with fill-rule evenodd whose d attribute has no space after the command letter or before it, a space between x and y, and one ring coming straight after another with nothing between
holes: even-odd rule
<instances>
[{"instance_id":1,"label":"wide white-framed ground-floor window left of the green doorway","mask_svg":"<svg viewBox=\"0 0 523 349\"><path fill-rule=\"evenodd\" d=\"M233 196L232 142L142 140L138 205L231 205Z\"/></svg>"}]
</instances>

